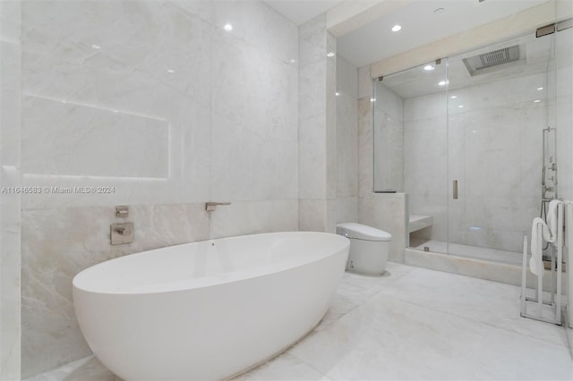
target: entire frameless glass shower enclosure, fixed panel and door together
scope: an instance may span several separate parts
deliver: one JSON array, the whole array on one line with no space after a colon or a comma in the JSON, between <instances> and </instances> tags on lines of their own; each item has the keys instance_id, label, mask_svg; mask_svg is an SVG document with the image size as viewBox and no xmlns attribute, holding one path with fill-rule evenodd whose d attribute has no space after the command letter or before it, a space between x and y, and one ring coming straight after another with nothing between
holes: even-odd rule
<instances>
[{"instance_id":1,"label":"entire frameless glass shower enclosure, fixed panel and door together","mask_svg":"<svg viewBox=\"0 0 573 381\"><path fill-rule=\"evenodd\" d=\"M571 32L374 80L374 191L407 193L410 248L520 264L533 218L571 193Z\"/></svg>"}]
</instances>

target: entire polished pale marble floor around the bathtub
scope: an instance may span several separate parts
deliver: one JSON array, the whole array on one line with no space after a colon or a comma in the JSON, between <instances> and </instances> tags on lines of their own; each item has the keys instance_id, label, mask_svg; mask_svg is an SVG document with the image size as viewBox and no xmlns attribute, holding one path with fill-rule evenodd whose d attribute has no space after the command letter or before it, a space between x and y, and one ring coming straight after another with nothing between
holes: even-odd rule
<instances>
[{"instance_id":1,"label":"entire polished pale marble floor around the bathtub","mask_svg":"<svg viewBox=\"0 0 573 381\"><path fill-rule=\"evenodd\" d=\"M567 330L520 318L518 287L387 269L380 277L346 273L311 334L234 381L573 378ZM119 380L95 358L30 379Z\"/></svg>"}]
</instances>

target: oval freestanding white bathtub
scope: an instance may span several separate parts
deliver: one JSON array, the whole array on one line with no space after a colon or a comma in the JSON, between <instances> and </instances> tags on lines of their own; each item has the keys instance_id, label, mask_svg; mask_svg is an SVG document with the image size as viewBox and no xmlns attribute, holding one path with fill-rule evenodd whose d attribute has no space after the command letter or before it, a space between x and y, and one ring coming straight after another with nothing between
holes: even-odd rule
<instances>
[{"instance_id":1,"label":"oval freestanding white bathtub","mask_svg":"<svg viewBox=\"0 0 573 381\"><path fill-rule=\"evenodd\" d=\"M73 278L91 350L127 380L213 380L284 351L316 326L349 241L264 233L115 258Z\"/></svg>"}]
</instances>

